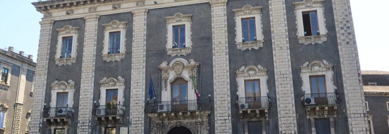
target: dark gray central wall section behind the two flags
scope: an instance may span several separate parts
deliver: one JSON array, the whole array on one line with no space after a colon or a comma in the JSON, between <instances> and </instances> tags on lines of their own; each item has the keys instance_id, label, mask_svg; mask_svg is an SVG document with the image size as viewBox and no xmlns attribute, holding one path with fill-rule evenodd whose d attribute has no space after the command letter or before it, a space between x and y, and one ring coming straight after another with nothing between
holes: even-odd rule
<instances>
[{"instance_id":1,"label":"dark gray central wall section behind the two flags","mask_svg":"<svg viewBox=\"0 0 389 134\"><path fill-rule=\"evenodd\" d=\"M197 87L200 99L207 99L210 94L213 100L213 67L212 67L212 23L209 3L174 6L150 9L147 14L147 45L146 45L146 98L149 97L150 75L153 79L155 96L161 101L161 70L162 62L170 63L174 59L193 59L199 63L197 71ZM175 13L192 14L192 53L187 56L168 56L166 52L166 16ZM208 125L209 134L214 134L214 113L211 112ZM145 134L150 133L151 119L145 115Z\"/></svg>"}]
</instances>

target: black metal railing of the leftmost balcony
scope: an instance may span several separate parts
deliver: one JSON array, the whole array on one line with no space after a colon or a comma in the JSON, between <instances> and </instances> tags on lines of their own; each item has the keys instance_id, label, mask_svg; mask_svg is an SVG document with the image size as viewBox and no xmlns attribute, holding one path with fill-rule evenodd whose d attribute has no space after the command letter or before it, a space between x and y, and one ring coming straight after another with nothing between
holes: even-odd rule
<instances>
[{"instance_id":1,"label":"black metal railing of the leftmost balcony","mask_svg":"<svg viewBox=\"0 0 389 134\"><path fill-rule=\"evenodd\" d=\"M74 109L70 107L43 108L43 118L72 118Z\"/></svg>"}]
</instances>

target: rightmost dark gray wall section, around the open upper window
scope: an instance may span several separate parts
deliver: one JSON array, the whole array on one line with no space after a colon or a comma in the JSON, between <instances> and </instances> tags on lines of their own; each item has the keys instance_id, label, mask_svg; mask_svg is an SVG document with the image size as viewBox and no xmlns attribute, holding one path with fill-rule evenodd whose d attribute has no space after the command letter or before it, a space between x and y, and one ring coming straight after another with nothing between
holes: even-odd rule
<instances>
[{"instance_id":1,"label":"rightmost dark gray wall section, around the open upper window","mask_svg":"<svg viewBox=\"0 0 389 134\"><path fill-rule=\"evenodd\" d=\"M344 87L342 80L342 71L339 58L338 42L335 29L334 12L331 0L324 1L324 16L326 18L326 28L328 41L323 44L310 44L304 45L299 44L297 39L297 28L296 28L296 16L293 2L301 0L286 0L286 15L288 23L288 34L289 34L289 46L290 46L290 57L292 64L293 74L293 86L295 95L295 105L297 114L297 129L299 134L308 134L311 131L311 124L306 118L305 108L301 103L301 96L304 94L301 89L302 79L300 76L300 66L305 62L312 61L323 61L326 60L330 64L334 65L334 85L338 87L340 93L341 102L338 106L337 118L335 119L335 133L347 134L348 124L344 97ZM329 81L327 81L329 82Z\"/></svg>"}]
</instances>

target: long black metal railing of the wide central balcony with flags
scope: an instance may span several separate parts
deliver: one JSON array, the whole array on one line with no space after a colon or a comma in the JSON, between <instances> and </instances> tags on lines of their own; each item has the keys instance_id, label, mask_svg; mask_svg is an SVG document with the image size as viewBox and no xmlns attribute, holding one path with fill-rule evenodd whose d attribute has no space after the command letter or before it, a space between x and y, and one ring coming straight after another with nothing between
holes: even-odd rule
<instances>
[{"instance_id":1,"label":"long black metal railing of the wide central balcony with flags","mask_svg":"<svg viewBox=\"0 0 389 134\"><path fill-rule=\"evenodd\" d=\"M146 113L211 111L212 100L162 101L146 103Z\"/></svg>"}]
</instances>

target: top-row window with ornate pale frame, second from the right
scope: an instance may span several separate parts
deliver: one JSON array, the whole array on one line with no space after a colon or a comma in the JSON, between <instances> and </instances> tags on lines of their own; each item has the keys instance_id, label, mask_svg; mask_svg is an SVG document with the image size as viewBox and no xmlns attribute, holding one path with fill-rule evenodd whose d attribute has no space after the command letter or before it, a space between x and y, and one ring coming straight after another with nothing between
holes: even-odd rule
<instances>
[{"instance_id":1,"label":"top-row window with ornate pale frame, second from the right","mask_svg":"<svg viewBox=\"0 0 389 134\"><path fill-rule=\"evenodd\" d=\"M251 50L263 47L261 9L262 6L244 5L242 8L233 10L237 49Z\"/></svg>"}]
</instances>

